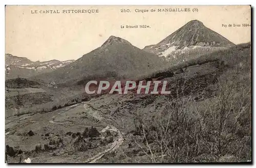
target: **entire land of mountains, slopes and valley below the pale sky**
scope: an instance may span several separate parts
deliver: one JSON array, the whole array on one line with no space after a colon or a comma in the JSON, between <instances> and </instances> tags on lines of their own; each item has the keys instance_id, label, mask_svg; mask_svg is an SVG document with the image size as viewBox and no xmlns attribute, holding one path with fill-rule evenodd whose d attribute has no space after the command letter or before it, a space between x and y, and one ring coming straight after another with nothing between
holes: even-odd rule
<instances>
[{"instance_id":1,"label":"entire land of mountains, slopes and valley below the pale sky","mask_svg":"<svg viewBox=\"0 0 256 168\"><path fill-rule=\"evenodd\" d=\"M251 43L192 20L144 49L110 36L78 60L50 63L6 79L8 163L251 160ZM91 80L165 81L170 94L88 94Z\"/></svg>"}]
</instances>

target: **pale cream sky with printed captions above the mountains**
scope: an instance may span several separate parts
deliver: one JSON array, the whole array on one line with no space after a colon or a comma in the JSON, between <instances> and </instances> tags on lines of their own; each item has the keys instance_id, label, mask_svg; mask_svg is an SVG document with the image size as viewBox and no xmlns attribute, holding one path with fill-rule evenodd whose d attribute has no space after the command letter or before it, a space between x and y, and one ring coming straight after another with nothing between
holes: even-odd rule
<instances>
[{"instance_id":1,"label":"pale cream sky with printed captions above the mountains","mask_svg":"<svg viewBox=\"0 0 256 168\"><path fill-rule=\"evenodd\" d=\"M154 9L156 12L151 12ZM40 13L46 10L56 13ZM251 23L250 6L6 6L6 53L31 61L76 60L112 35L142 49L157 44L190 20L203 22L234 44L250 42L251 27L242 26ZM150 27L122 29L122 25Z\"/></svg>"}]
</instances>

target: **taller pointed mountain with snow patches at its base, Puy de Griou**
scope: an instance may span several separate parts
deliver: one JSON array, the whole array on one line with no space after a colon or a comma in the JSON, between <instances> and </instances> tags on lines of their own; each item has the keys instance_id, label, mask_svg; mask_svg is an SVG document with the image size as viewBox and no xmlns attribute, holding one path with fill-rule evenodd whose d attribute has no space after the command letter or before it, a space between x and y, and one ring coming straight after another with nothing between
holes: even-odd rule
<instances>
[{"instance_id":1,"label":"taller pointed mountain with snow patches at its base, Puy de Griou","mask_svg":"<svg viewBox=\"0 0 256 168\"><path fill-rule=\"evenodd\" d=\"M221 36L220 34L210 30L199 20L191 20L180 29L160 41L156 45L146 46L143 50L155 53L159 56L177 58L179 54L175 51L182 52L187 49L195 49L197 47L206 47L202 50L216 50L225 47L234 46L232 42ZM200 50L201 49L198 49ZM184 52L188 52L184 51ZM172 55L174 53L174 55Z\"/></svg>"}]
</instances>

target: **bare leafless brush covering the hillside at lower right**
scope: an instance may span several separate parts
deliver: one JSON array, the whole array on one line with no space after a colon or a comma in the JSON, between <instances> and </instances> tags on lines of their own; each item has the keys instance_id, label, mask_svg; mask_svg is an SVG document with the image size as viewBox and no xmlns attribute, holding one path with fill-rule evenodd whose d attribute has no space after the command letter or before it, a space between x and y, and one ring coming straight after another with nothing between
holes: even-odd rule
<instances>
[{"instance_id":1,"label":"bare leafless brush covering the hillside at lower right","mask_svg":"<svg viewBox=\"0 0 256 168\"><path fill-rule=\"evenodd\" d=\"M195 101L180 87L182 94L170 99L160 113L137 115L133 134L138 136L133 141L148 161L251 160L250 57L249 44L218 52L215 58L225 61L227 69L208 87L210 98ZM204 62L202 59L197 64ZM138 137L143 138L140 141Z\"/></svg>"}]
</instances>

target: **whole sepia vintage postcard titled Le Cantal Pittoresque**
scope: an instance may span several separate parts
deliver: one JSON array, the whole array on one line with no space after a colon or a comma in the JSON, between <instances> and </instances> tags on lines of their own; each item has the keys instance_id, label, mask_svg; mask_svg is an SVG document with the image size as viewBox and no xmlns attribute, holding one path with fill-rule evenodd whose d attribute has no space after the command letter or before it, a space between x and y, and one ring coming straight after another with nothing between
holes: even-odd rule
<instances>
[{"instance_id":1,"label":"whole sepia vintage postcard titled Le Cantal Pittoresque","mask_svg":"<svg viewBox=\"0 0 256 168\"><path fill-rule=\"evenodd\" d=\"M6 6L7 163L251 163L251 6Z\"/></svg>"}]
</instances>

